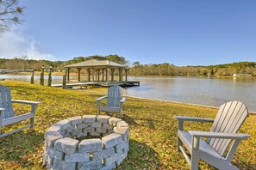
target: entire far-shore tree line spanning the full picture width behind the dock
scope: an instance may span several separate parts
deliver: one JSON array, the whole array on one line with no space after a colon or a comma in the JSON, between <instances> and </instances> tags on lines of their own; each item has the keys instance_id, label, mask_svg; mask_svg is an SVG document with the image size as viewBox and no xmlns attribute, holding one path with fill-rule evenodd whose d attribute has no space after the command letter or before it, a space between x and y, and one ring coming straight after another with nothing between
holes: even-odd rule
<instances>
[{"instance_id":1,"label":"entire far-shore tree line spanning the full picture width behind the dock","mask_svg":"<svg viewBox=\"0 0 256 170\"><path fill-rule=\"evenodd\" d=\"M53 67L53 71L65 70L65 65L83 62L93 57L76 57L67 61L33 60L28 57L0 58L0 70L35 70L41 71L42 65L47 69ZM130 76L233 76L233 74L249 74L256 76L256 62L239 62L233 64L217 64L209 66L176 66L174 64L130 64L124 57L116 54L105 56L109 61L128 65ZM77 72L77 70L72 70ZM83 71L85 72L85 70Z\"/></svg>"}]
</instances>

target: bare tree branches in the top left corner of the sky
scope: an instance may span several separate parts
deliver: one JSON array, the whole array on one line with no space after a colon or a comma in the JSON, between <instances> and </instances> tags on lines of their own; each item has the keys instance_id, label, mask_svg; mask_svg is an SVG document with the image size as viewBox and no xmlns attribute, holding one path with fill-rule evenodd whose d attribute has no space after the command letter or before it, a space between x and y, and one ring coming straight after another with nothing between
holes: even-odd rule
<instances>
[{"instance_id":1,"label":"bare tree branches in the top left corner of the sky","mask_svg":"<svg viewBox=\"0 0 256 170\"><path fill-rule=\"evenodd\" d=\"M13 23L21 23L19 15L22 13L23 8L18 6L17 0L0 0L0 33Z\"/></svg>"}]
</instances>

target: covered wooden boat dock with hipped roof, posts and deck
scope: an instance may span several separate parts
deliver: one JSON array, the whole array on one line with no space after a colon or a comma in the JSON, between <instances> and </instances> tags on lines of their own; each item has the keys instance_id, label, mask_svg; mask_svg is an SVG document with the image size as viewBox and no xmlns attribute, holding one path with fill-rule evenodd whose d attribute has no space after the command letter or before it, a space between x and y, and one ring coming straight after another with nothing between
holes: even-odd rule
<instances>
[{"instance_id":1,"label":"covered wooden boat dock with hipped roof, posts and deck","mask_svg":"<svg viewBox=\"0 0 256 170\"><path fill-rule=\"evenodd\" d=\"M122 87L140 86L140 82L128 81L129 68L123 64L117 64L104 57L97 57L77 64L66 65L66 88L76 86L109 87L120 85ZM76 82L71 82L71 70L77 70ZM85 70L85 79L81 79L81 70ZM117 78L116 78L117 77ZM116 80L116 79L117 80ZM53 87L61 87L62 84L53 84Z\"/></svg>"}]
</instances>

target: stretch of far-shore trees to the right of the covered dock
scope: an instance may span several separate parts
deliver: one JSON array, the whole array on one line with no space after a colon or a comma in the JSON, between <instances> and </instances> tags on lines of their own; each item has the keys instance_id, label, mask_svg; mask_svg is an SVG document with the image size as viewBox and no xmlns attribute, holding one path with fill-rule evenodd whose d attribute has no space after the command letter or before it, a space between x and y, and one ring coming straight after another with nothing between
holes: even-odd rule
<instances>
[{"instance_id":1,"label":"stretch of far-shore trees to the right of the covered dock","mask_svg":"<svg viewBox=\"0 0 256 170\"><path fill-rule=\"evenodd\" d=\"M234 74L256 76L256 62L183 67L168 63L140 64L140 62L134 62L130 74L134 76L233 76Z\"/></svg>"}]
</instances>

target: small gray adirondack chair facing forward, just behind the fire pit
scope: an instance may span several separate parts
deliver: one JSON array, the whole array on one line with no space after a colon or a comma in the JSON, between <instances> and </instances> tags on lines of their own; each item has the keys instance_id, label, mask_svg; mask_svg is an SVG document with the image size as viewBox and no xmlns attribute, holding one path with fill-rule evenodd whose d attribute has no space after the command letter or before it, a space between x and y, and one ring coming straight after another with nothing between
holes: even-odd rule
<instances>
[{"instance_id":1,"label":"small gray adirondack chair facing forward, just behind the fire pit","mask_svg":"<svg viewBox=\"0 0 256 170\"><path fill-rule=\"evenodd\" d=\"M102 100L107 99L107 106L102 106ZM119 112L119 116L123 114L122 106L125 98L122 97L122 88L120 86L111 86L108 89L108 95L97 99L98 114L104 112Z\"/></svg>"}]
</instances>

